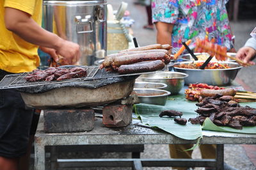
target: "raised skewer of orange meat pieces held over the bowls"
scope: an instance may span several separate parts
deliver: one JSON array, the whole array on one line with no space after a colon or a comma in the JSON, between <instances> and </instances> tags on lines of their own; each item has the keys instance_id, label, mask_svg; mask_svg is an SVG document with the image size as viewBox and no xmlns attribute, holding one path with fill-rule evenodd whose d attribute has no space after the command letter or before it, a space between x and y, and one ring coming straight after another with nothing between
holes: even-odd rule
<instances>
[{"instance_id":1,"label":"raised skewer of orange meat pieces held over the bowls","mask_svg":"<svg viewBox=\"0 0 256 170\"><path fill-rule=\"evenodd\" d=\"M207 42L207 40L200 40L199 38L197 38L195 50L198 52L208 52L211 56L215 56L216 59L221 61L225 60L226 58L230 58L237 61L237 63L239 63L240 65L252 66L249 63L244 63L241 59L228 56L226 47L221 47L218 44Z\"/></svg>"}]
</instances>

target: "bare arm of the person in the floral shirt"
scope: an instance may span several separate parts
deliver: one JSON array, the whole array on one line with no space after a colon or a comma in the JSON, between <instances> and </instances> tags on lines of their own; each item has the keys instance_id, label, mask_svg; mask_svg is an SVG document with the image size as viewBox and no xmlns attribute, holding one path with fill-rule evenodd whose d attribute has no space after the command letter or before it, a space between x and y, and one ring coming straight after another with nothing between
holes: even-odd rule
<instances>
[{"instance_id":1,"label":"bare arm of the person in the floral shirt","mask_svg":"<svg viewBox=\"0 0 256 170\"><path fill-rule=\"evenodd\" d=\"M173 24L156 22L157 43L172 45Z\"/></svg>"}]
</instances>

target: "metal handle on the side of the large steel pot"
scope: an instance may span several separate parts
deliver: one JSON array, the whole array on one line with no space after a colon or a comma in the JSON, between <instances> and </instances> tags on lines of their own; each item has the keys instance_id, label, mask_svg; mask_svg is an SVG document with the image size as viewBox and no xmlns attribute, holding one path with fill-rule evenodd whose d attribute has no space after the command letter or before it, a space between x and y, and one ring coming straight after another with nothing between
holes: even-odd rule
<instances>
[{"instance_id":1,"label":"metal handle on the side of the large steel pot","mask_svg":"<svg viewBox=\"0 0 256 170\"><path fill-rule=\"evenodd\" d=\"M81 15L77 15L75 17L76 21L76 33L77 34L83 34L83 33L92 33L93 28L92 28L92 17L91 15L85 15L84 18L82 19ZM88 25L90 29L84 30L84 27Z\"/></svg>"}]
</instances>

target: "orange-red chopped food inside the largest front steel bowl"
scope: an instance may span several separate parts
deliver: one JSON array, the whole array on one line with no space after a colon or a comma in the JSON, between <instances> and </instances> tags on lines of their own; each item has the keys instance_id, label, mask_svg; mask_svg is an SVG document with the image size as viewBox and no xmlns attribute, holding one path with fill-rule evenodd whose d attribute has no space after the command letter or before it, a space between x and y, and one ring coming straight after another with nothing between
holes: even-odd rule
<instances>
[{"instance_id":1,"label":"orange-red chopped food inside the largest front steel bowl","mask_svg":"<svg viewBox=\"0 0 256 170\"><path fill-rule=\"evenodd\" d=\"M176 67L179 68L191 68L191 69L200 69L200 66L202 66L204 62L196 62L196 63L182 63L180 65L177 65ZM225 63L218 63L218 62L210 62L205 66L205 69L223 69L223 68L230 68Z\"/></svg>"}]
</instances>

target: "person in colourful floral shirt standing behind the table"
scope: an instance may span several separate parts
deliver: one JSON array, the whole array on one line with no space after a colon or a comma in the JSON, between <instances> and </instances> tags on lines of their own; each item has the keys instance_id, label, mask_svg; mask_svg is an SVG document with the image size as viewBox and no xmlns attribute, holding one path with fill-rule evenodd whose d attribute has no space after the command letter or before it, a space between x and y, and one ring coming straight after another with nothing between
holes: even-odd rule
<instances>
[{"instance_id":1,"label":"person in colourful floral shirt standing behind the table","mask_svg":"<svg viewBox=\"0 0 256 170\"><path fill-rule=\"evenodd\" d=\"M157 43L172 45L175 54L182 42L192 40L189 47L195 48L196 38L207 39L236 52L232 41L227 9L227 0L152 0L152 21L156 24ZM186 50L184 53L187 53ZM191 158L193 144L170 144L172 158ZM215 158L215 144L201 144L202 158ZM227 166L227 164L225 164ZM187 169L187 167L174 167Z\"/></svg>"}]
</instances>

